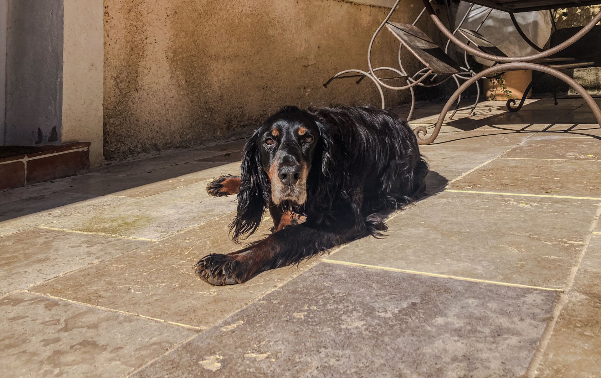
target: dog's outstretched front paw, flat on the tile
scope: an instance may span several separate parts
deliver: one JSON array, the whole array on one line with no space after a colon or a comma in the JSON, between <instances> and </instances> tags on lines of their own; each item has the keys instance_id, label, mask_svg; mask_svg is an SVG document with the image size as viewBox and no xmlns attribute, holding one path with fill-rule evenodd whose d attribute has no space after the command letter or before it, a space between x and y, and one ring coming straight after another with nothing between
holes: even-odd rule
<instances>
[{"instance_id":1,"label":"dog's outstretched front paw, flat on the tile","mask_svg":"<svg viewBox=\"0 0 601 378\"><path fill-rule=\"evenodd\" d=\"M233 255L206 255L195 267L196 275L209 284L221 286L242 283L242 264Z\"/></svg>"}]
</instances>

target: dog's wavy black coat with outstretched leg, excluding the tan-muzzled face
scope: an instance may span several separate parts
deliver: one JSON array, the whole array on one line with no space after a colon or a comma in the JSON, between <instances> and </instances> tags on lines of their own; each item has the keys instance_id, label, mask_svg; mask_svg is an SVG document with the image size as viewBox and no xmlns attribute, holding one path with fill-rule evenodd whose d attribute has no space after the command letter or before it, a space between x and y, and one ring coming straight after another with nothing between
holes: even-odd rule
<instances>
[{"instance_id":1,"label":"dog's wavy black coat with outstretched leg, excluding the tan-muzzled face","mask_svg":"<svg viewBox=\"0 0 601 378\"><path fill-rule=\"evenodd\" d=\"M300 206L289 201L276 206L271 197L270 175L261 162L265 156L261 135L274 124L301 124L319 133L309 162L307 200ZM238 212L231 224L234 240L254 233L267 208L272 216L293 210L306 221L233 254L202 258L197 274L216 285L244 282L264 270L298 263L334 246L382 236L386 215L426 194L428 165L406 121L391 112L371 107L302 110L285 106L246 143L241 171ZM225 189L219 192L221 183L235 179L217 178L207 190L227 195ZM277 228L280 220L273 218Z\"/></svg>"}]
</instances>

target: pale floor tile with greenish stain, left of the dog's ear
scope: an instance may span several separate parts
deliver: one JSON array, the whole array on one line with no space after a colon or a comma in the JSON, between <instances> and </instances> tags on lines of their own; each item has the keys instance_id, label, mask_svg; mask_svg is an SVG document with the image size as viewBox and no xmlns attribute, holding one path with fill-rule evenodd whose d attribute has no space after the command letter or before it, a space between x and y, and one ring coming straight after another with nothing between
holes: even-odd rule
<instances>
[{"instance_id":1,"label":"pale floor tile with greenish stain, left of the dog's ear","mask_svg":"<svg viewBox=\"0 0 601 378\"><path fill-rule=\"evenodd\" d=\"M236 210L236 197L209 197L210 180L136 198L110 209L52 224L53 228L157 240Z\"/></svg>"}]
</instances>

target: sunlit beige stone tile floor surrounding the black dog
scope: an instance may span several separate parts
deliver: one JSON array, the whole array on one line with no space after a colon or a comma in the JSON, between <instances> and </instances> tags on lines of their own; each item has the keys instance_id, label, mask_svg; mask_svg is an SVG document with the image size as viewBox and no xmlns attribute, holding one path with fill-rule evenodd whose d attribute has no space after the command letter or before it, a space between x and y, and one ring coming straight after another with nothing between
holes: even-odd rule
<instances>
[{"instance_id":1,"label":"sunlit beige stone tile floor surrounding the black dog","mask_svg":"<svg viewBox=\"0 0 601 378\"><path fill-rule=\"evenodd\" d=\"M0 377L601 377L594 122L579 99L462 110L388 237L228 287L192 266L237 249L204 187L243 141L0 192Z\"/></svg>"}]
</instances>

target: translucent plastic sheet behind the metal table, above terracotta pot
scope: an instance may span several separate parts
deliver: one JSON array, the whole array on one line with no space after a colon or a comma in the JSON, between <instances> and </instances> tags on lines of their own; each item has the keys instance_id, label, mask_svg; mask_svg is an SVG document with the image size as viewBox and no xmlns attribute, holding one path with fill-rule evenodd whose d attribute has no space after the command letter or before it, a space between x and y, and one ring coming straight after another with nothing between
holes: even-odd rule
<instances>
[{"instance_id":1,"label":"translucent plastic sheet behind the metal table, above terracotta pot","mask_svg":"<svg viewBox=\"0 0 601 378\"><path fill-rule=\"evenodd\" d=\"M465 1L459 3L455 25L459 25L459 22L461 22L463 16L465 16L470 5L471 4ZM461 27L463 29L476 30L484 17L486 17L486 14L488 14L489 10L490 8L488 7L474 5ZM526 36L528 36L528 38L530 38L530 40L538 47L544 47L551 36L551 13L549 13L548 10L545 10L514 13L514 16L524 34L526 34ZM507 56L525 56L537 53L535 49L530 47L528 43L520 37L507 12L493 10L478 32L484 35L487 40L495 44ZM466 42L463 35L459 32L457 32L456 35ZM486 66L492 66L493 64L493 62L478 56L475 56L474 58L481 64L486 64Z\"/></svg>"}]
</instances>

